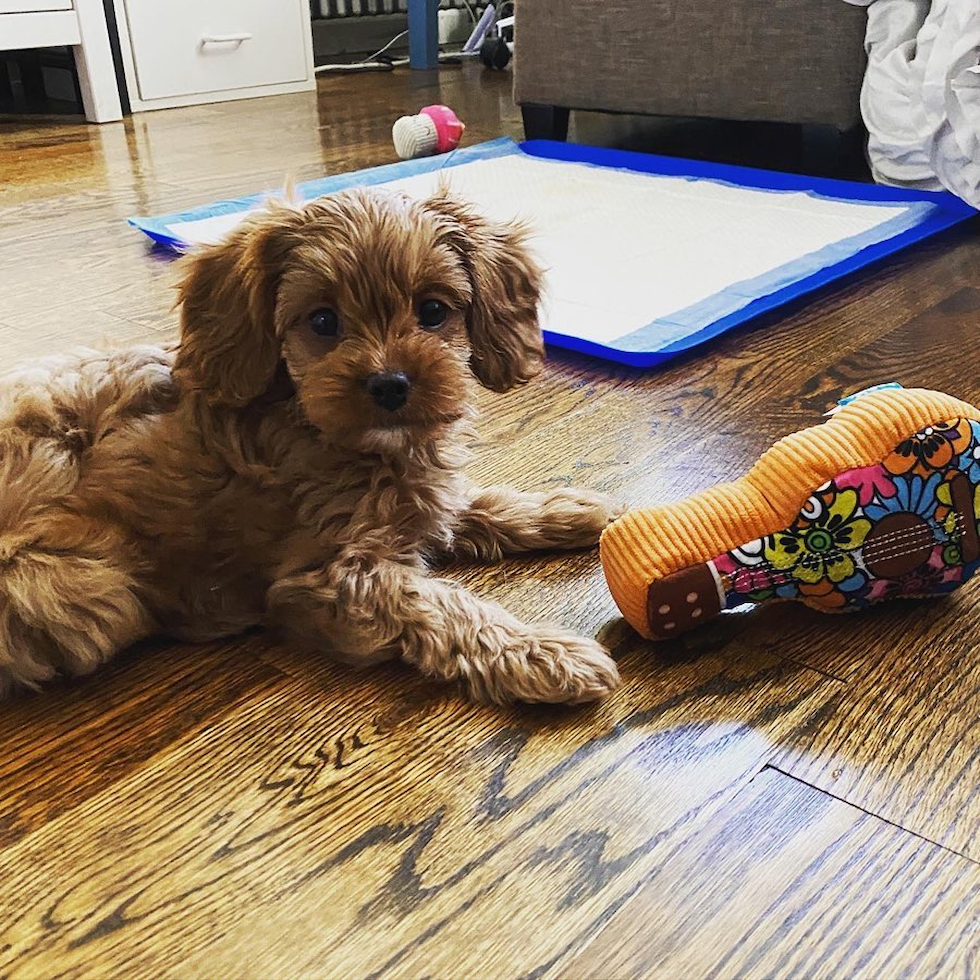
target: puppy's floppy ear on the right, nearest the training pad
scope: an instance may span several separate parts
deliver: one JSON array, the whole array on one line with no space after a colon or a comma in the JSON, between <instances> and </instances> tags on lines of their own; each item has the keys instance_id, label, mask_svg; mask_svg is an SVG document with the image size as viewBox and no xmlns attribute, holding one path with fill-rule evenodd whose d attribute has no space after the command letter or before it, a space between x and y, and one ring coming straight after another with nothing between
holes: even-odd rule
<instances>
[{"instance_id":1,"label":"puppy's floppy ear on the right, nearest the training pad","mask_svg":"<svg viewBox=\"0 0 980 980\"><path fill-rule=\"evenodd\" d=\"M470 277L467 327L473 373L494 391L533 378L544 358L538 324L543 274L528 250L528 230L483 218L445 189L425 206L450 222L450 240Z\"/></svg>"}]
</instances>

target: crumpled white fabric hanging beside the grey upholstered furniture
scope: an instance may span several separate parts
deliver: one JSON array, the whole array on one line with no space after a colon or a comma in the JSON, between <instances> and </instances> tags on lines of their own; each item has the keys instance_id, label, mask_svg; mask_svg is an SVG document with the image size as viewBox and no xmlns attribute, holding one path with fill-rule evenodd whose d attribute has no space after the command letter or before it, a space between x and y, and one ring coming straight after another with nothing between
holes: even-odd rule
<instances>
[{"instance_id":1,"label":"crumpled white fabric hanging beside the grey upholstered furniture","mask_svg":"<svg viewBox=\"0 0 980 980\"><path fill-rule=\"evenodd\" d=\"M848 2L868 8L861 111L875 180L980 208L980 0Z\"/></svg>"}]
</instances>

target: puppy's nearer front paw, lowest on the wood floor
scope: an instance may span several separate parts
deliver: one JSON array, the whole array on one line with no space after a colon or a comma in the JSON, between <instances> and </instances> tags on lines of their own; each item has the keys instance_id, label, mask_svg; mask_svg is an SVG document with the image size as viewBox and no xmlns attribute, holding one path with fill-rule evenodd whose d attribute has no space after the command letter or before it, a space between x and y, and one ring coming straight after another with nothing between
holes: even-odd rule
<instances>
[{"instance_id":1,"label":"puppy's nearer front paw, lowest on the wood floor","mask_svg":"<svg viewBox=\"0 0 980 980\"><path fill-rule=\"evenodd\" d=\"M556 627L529 626L497 654L462 666L472 696L498 704L580 704L619 687L619 670L603 646Z\"/></svg>"}]
</instances>

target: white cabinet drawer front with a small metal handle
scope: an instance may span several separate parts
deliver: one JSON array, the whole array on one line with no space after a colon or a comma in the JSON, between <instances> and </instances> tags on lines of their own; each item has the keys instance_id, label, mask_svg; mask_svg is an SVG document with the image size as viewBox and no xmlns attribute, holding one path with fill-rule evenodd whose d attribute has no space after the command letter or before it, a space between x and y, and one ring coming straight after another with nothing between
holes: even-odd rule
<instances>
[{"instance_id":1,"label":"white cabinet drawer front with a small metal handle","mask_svg":"<svg viewBox=\"0 0 980 980\"><path fill-rule=\"evenodd\" d=\"M302 81L307 0L126 0L142 99Z\"/></svg>"}]
</instances>

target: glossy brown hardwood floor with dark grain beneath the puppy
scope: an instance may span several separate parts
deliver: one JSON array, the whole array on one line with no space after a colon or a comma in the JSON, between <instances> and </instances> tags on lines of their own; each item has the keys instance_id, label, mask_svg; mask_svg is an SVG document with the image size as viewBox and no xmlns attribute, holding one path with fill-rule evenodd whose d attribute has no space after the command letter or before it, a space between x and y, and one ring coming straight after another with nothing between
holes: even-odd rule
<instances>
[{"instance_id":1,"label":"glossy brown hardwood floor with dark grain beneath the puppy","mask_svg":"<svg viewBox=\"0 0 980 980\"><path fill-rule=\"evenodd\" d=\"M468 140L520 136L509 76L456 69L102 128L0 117L3 363L171 339L172 263L128 216L388 162L392 120L435 101ZM572 138L711 149L634 120ZM657 372L553 352L483 398L474 475L649 504L740 475L866 384L980 401L978 231ZM600 635L622 689L477 707L250 635L145 644L7 701L0 976L980 976L976 586L653 648L594 554L450 574Z\"/></svg>"}]
</instances>

